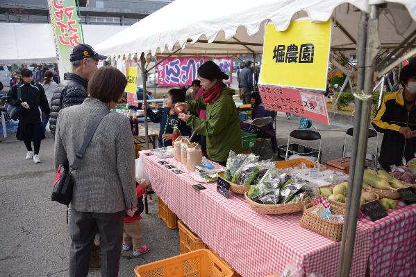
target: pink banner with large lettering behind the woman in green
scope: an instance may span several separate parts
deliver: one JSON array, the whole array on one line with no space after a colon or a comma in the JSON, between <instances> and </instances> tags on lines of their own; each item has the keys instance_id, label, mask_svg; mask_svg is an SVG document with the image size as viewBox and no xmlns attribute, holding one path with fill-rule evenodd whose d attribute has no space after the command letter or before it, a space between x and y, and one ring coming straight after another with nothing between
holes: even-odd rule
<instances>
[{"instance_id":1,"label":"pink banner with large lettering behind the woman in green","mask_svg":"<svg viewBox=\"0 0 416 277\"><path fill-rule=\"evenodd\" d=\"M158 62L165 57L157 57ZM230 76L226 84L232 84L233 57L168 57L158 65L159 87L190 86L194 79L198 79L198 69L206 61L213 60L222 72Z\"/></svg>"}]
</instances>

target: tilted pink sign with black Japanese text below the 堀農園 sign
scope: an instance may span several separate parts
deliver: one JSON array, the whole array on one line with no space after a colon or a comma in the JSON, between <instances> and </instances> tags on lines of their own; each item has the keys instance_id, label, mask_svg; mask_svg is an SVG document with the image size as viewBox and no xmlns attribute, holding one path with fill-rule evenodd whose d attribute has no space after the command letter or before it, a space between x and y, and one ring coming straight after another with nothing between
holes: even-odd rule
<instances>
[{"instance_id":1,"label":"tilted pink sign with black Japanese text below the \u5800\u8fb2\u5712 sign","mask_svg":"<svg viewBox=\"0 0 416 277\"><path fill-rule=\"evenodd\" d=\"M283 111L329 125L324 94L258 85L266 109Z\"/></svg>"}]
</instances>

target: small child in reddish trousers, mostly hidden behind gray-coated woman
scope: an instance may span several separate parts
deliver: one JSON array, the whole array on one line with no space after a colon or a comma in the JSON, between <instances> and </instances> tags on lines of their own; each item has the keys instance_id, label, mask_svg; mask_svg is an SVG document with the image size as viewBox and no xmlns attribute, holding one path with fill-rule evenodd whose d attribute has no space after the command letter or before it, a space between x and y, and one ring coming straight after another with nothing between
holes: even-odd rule
<instances>
[{"instance_id":1,"label":"small child in reddish trousers, mostly hidden behind gray-coated woman","mask_svg":"<svg viewBox=\"0 0 416 277\"><path fill-rule=\"evenodd\" d=\"M146 193L147 181L142 180L140 184L136 183L136 193L138 195L138 202L143 201L142 196ZM138 204L140 206L140 204ZM123 246L124 251L128 251L133 247L133 256L138 257L144 253L149 252L149 245L142 244L142 226L140 220L140 211L136 212L133 217L124 216L123 228Z\"/></svg>"}]
</instances>

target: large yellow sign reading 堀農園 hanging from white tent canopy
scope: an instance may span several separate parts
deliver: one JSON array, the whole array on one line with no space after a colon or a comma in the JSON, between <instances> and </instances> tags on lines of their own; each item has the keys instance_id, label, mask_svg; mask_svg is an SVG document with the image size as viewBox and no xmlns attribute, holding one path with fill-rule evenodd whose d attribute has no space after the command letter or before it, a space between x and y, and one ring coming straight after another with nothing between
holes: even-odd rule
<instances>
[{"instance_id":1,"label":"large yellow sign reading \u5800\u8fb2\u5712 hanging from white tent canopy","mask_svg":"<svg viewBox=\"0 0 416 277\"><path fill-rule=\"evenodd\" d=\"M331 21L292 21L288 29L265 27L260 84L326 89Z\"/></svg>"}]
</instances>

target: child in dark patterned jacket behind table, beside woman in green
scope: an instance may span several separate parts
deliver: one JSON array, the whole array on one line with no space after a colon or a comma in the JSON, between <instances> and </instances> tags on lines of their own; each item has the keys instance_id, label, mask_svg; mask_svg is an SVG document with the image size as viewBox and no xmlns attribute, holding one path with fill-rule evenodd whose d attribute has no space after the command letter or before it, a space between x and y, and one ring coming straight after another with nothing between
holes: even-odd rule
<instances>
[{"instance_id":1,"label":"child in dark patterned jacket behind table, beside woman in green","mask_svg":"<svg viewBox=\"0 0 416 277\"><path fill-rule=\"evenodd\" d=\"M174 111L176 103L185 102L185 91L183 89L169 89L167 91L166 105L167 107L159 109L155 114L151 109L147 109L147 115L153 123L160 123L158 148L172 146L172 133L174 125L178 125L181 136L189 136L191 129L185 122L178 119L178 114ZM145 109L144 105L142 109Z\"/></svg>"}]
</instances>

